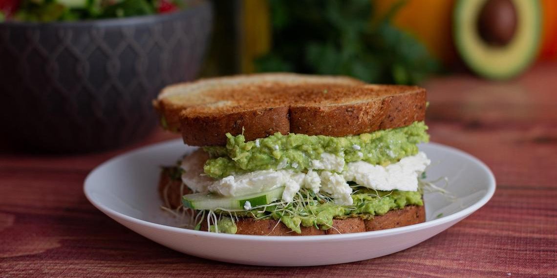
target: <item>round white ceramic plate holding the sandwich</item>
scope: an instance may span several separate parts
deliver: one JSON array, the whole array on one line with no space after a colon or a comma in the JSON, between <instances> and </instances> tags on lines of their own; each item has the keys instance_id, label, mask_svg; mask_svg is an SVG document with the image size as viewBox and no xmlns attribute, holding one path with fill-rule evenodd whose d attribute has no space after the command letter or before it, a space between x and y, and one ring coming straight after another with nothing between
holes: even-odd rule
<instances>
[{"instance_id":1,"label":"round white ceramic plate holding the sandwich","mask_svg":"<svg viewBox=\"0 0 557 278\"><path fill-rule=\"evenodd\" d=\"M382 231L321 236L248 236L214 234L176 227L160 209L159 166L172 165L194 150L181 140L158 143L115 157L95 168L85 180L85 195L120 224L170 249L206 259L249 265L330 265L373 259L398 252L439 234L490 200L495 178L477 158L455 148L420 146L432 160L428 179L448 177L441 193L426 193L427 221Z\"/></svg>"}]
</instances>

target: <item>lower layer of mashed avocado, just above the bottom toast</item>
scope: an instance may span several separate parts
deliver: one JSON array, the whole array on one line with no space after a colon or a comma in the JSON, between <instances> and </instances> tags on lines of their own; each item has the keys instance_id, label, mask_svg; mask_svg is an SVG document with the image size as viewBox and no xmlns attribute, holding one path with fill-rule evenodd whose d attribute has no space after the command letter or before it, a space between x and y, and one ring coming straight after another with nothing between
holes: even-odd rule
<instances>
[{"instance_id":1,"label":"lower layer of mashed avocado, just above the bottom toast","mask_svg":"<svg viewBox=\"0 0 557 278\"><path fill-rule=\"evenodd\" d=\"M296 215L291 215L284 211L265 211L257 210L233 212L237 217L253 217L256 219L280 220L292 231L301 234L301 226L318 227L321 230L328 230L333 226L333 219L346 219L351 217L361 217L373 219L375 215L384 215L390 210L403 209L407 205L423 206L422 193L418 191L375 191L359 188L359 191L352 195L354 205L341 206L333 202L319 203L315 201L305 207L296 209ZM272 210L268 208L268 210ZM290 210L294 210L290 208ZM218 213L218 211L217 211ZM228 215L228 212L223 213ZM223 219L227 222L221 224ZM217 222L219 232L236 234L237 227L228 217L221 217ZM214 230L214 228L211 228Z\"/></svg>"}]
</instances>

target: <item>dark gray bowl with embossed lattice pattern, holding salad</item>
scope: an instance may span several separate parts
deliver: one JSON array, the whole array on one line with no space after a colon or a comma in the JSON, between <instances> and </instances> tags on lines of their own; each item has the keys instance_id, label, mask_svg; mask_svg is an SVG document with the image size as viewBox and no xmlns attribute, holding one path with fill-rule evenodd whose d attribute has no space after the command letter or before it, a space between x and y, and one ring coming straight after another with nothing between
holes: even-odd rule
<instances>
[{"instance_id":1,"label":"dark gray bowl with embossed lattice pattern, holding salad","mask_svg":"<svg viewBox=\"0 0 557 278\"><path fill-rule=\"evenodd\" d=\"M156 125L162 87L196 77L211 3L144 17L0 23L0 130L27 150L122 146Z\"/></svg>"}]
</instances>

